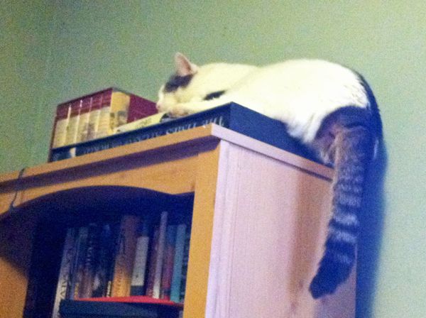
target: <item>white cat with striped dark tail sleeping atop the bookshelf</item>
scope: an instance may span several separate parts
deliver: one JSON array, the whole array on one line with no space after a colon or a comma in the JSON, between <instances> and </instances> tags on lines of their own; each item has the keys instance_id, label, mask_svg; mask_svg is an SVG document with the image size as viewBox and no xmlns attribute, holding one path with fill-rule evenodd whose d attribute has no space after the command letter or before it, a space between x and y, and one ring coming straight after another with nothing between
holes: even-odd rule
<instances>
[{"instance_id":1,"label":"white cat with striped dark tail sleeping atop the bookshelf","mask_svg":"<svg viewBox=\"0 0 426 318\"><path fill-rule=\"evenodd\" d=\"M366 172L382 139L378 106L366 80L325 60L198 66L177 53L175 67L158 92L159 111L179 117L236 102L282 121L290 136L334 166L332 218L310 283L315 299L334 293L355 263Z\"/></svg>"}]
</instances>

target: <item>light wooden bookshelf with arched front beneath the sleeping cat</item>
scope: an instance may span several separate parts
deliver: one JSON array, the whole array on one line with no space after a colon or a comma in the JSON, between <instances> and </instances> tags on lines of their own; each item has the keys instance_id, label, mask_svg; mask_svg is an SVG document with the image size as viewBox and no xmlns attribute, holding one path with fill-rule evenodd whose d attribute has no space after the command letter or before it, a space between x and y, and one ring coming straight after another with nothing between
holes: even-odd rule
<instances>
[{"instance_id":1,"label":"light wooden bookshelf with arched front beneath the sleeping cat","mask_svg":"<svg viewBox=\"0 0 426 318\"><path fill-rule=\"evenodd\" d=\"M152 191L193 194L185 318L355 317L355 270L332 296L307 291L331 178L323 165L214 124L0 175L0 317L23 314L42 214L62 210L61 221L74 222L67 214L81 204L104 204L96 217L107 218L114 194ZM105 189L114 189L110 203Z\"/></svg>"}]
</instances>

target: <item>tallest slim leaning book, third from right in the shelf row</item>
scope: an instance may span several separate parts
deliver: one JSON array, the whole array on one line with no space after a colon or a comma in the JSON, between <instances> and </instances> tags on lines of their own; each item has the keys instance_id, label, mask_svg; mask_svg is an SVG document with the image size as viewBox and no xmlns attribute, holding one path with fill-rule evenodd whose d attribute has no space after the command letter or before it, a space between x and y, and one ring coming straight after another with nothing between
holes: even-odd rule
<instances>
[{"instance_id":1,"label":"tallest slim leaning book, third from right in the shelf row","mask_svg":"<svg viewBox=\"0 0 426 318\"><path fill-rule=\"evenodd\" d=\"M160 223L156 226L153 237L146 295L154 298L160 298L167 219L168 212L161 212Z\"/></svg>"}]
</instances>

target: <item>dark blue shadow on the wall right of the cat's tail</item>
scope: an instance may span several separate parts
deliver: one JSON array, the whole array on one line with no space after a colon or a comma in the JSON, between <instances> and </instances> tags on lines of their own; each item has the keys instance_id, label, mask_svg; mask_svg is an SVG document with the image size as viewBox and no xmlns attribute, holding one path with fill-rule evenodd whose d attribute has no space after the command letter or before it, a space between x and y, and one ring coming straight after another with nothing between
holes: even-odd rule
<instances>
[{"instance_id":1,"label":"dark blue shadow on the wall right of the cat's tail","mask_svg":"<svg viewBox=\"0 0 426 318\"><path fill-rule=\"evenodd\" d=\"M373 318L378 256L381 248L385 212L384 176L388 163L385 143L378 148L366 180L364 209L360 215L361 232L356 278L356 317Z\"/></svg>"}]
</instances>

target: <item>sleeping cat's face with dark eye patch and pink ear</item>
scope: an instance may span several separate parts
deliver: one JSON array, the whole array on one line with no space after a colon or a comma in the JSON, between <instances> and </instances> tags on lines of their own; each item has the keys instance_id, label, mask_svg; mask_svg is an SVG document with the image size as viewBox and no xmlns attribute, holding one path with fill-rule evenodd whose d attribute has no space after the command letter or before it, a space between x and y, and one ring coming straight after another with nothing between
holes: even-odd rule
<instances>
[{"instance_id":1,"label":"sleeping cat's face with dark eye patch and pink ear","mask_svg":"<svg viewBox=\"0 0 426 318\"><path fill-rule=\"evenodd\" d=\"M187 57L177 53L175 55L176 72L168 79L158 92L158 111L169 111L176 104L187 102L201 102L204 95L194 89L194 77L197 76L199 67L192 64Z\"/></svg>"}]
</instances>

